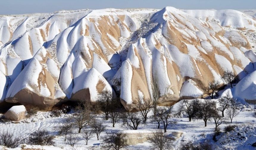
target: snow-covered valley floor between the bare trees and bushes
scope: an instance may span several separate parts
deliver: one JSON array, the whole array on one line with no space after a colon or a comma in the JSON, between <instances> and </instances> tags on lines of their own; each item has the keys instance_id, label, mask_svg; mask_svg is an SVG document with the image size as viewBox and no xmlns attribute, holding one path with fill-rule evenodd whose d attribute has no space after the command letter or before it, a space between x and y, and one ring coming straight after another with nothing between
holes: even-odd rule
<instances>
[{"instance_id":1,"label":"snow-covered valley floor between the bare trees and bushes","mask_svg":"<svg viewBox=\"0 0 256 150\"><path fill-rule=\"evenodd\" d=\"M202 142L209 142L213 145L215 149L254 149L250 144L256 142L256 118L253 117L254 113L254 105L247 105L244 106L245 108L241 109L241 112L237 117L233 119L232 125L237 125L238 127L235 129L235 131L224 133L223 129L225 126L230 125L227 124L221 124L220 129L223 133L217 137L218 141L214 142L212 140L213 133L214 133L214 127L215 124L212 121L209 121L207 124L207 127L204 127L204 122L202 120L193 120L191 122L188 121L188 118L173 118L173 120L177 121L177 124L169 125L167 132L170 134L171 132L176 131L182 131L184 134L177 139L176 141L173 141L173 149L177 149L181 143L193 141L197 143ZM241 107L242 108L242 107ZM152 112L150 112L152 115ZM72 113L69 114L62 114L60 117L51 117L51 112L37 112L37 114L32 115L31 118L27 118L24 120L21 120L19 122L1 122L0 123L0 131L9 131L13 132L15 136L22 136L26 137L30 133L38 130L38 129L46 129L49 131L51 135L54 135L54 146L28 146L26 145L26 148L43 148L46 150L51 149L72 149L71 146L69 146L67 143L64 142L63 136L57 135L56 127L62 125L65 123L65 120L68 117L71 117ZM117 132L117 131L123 131L123 130L129 130L126 126L122 126L122 121L118 121L118 123L115 125L115 127L112 127L112 123L110 120L105 121L103 120L102 115L98 115L97 119L102 121L104 123L104 126L106 126L106 130L100 135L100 137L103 137L106 135L106 133L109 132ZM138 130L139 131L152 131L154 132L157 128L156 123L150 122L151 119L148 120L147 124L139 125ZM161 128L163 128L161 126ZM131 130L132 131L132 130ZM78 129L76 127L73 127L72 132L77 133ZM129 131L128 131L129 132ZM238 132L241 134L239 135ZM78 134L78 133L77 133ZM96 135L88 141L88 145L85 145L85 141L82 140L82 135L78 134L80 138L79 142L74 146L75 149L85 149L85 148L91 148L94 147L96 149L100 149L100 146L102 144L102 138L100 140L97 140ZM241 136L243 136L241 138ZM21 144L18 148L15 149L21 149L21 146L25 146ZM127 149L150 149L151 143L144 142L139 143L137 145L130 145L127 147ZM1 147L0 147L1 148Z\"/></svg>"}]
</instances>

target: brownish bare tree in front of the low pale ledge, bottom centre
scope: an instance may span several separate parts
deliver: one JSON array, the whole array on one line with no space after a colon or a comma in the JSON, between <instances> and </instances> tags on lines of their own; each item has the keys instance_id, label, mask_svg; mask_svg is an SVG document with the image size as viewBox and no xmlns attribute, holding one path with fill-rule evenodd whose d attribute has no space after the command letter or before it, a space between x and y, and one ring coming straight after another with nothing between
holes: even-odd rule
<instances>
[{"instance_id":1,"label":"brownish bare tree in front of the low pale ledge, bottom centre","mask_svg":"<svg viewBox=\"0 0 256 150\"><path fill-rule=\"evenodd\" d=\"M162 130L154 132L152 136L148 137L148 140L158 150L168 149L171 143L171 140L164 135Z\"/></svg>"}]
</instances>

